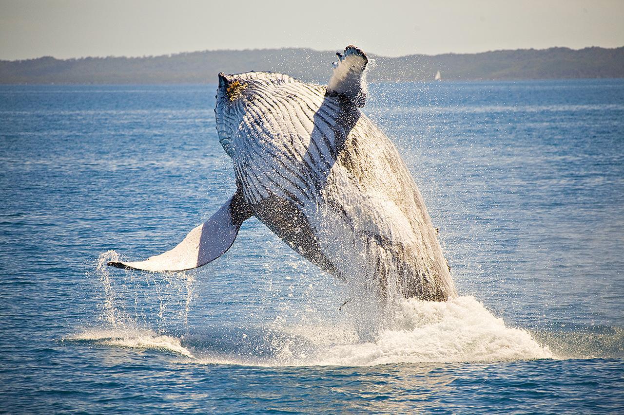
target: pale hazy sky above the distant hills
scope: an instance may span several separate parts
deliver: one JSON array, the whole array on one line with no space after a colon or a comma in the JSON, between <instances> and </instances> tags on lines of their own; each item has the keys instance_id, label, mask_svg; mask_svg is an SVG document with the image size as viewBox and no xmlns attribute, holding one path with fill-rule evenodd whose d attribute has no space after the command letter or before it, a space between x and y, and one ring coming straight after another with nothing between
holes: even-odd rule
<instances>
[{"instance_id":1,"label":"pale hazy sky above the distant hills","mask_svg":"<svg viewBox=\"0 0 624 415\"><path fill-rule=\"evenodd\" d=\"M354 43L381 55L624 45L624 0L0 0L0 59Z\"/></svg>"}]
</instances>

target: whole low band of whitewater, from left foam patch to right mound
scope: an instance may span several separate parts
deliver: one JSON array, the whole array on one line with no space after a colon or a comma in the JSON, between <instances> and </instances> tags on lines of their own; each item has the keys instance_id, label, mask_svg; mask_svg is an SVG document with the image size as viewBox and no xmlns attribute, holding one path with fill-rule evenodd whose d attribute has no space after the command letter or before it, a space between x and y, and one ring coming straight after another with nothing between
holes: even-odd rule
<instances>
[{"instance_id":1,"label":"whole low band of whitewater, from left foam patch to right mound","mask_svg":"<svg viewBox=\"0 0 624 415\"><path fill-rule=\"evenodd\" d=\"M529 332L506 327L474 297L447 302L401 300L397 323L373 341L359 341L357 329L342 325L285 325L243 333L238 350L188 345L177 337L133 324L88 328L66 340L162 350L187 363L248 366L374 366L389 363L487 362L553 358ZM241 335L241 336L243 336ZM194 343L201 343L195 341ZM252 346L253 345L253 346Z\"/></svg>"}]
</instances>

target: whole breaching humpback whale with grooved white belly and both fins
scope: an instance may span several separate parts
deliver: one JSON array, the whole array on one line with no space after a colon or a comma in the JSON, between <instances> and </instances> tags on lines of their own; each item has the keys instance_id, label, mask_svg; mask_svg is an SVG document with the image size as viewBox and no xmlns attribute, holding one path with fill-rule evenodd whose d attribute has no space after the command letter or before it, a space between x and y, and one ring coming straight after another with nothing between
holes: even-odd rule
<instances>
[{"instance_id":1,"label":"whole breaching humpback whale with grooved white belly and both fins","mask_svg":"<svg viewBox=\"0 0 624 415\"><path fill-rule=\"evenodd\" d=\"M188 270L232 246L257 217L321 269L386 297L456 295L421 193L396 148L360 112L366 54L338 55L326 86L270 72L218 75L217 132L232 158L236 192L180 244L137 262Z\"/></svg>"}]
</instances>

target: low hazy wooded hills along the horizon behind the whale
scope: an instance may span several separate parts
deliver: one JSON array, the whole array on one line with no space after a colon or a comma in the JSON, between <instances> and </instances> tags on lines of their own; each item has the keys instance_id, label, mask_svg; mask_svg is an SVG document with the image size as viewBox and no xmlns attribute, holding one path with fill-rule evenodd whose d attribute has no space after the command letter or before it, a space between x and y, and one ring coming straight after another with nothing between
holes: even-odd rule
<instances>
[{"instance_id":1,"label":"low hazy wooded hills along the horizon behind the whale","mask_svg":"<svg viewBox=\"0 0 624 415\"><path fill-rule=\"evenodd\" d=\"M371 82L618 79L624 47L494 50L477 54L405 55L376 61ZM84 57L0 60L4 85L163 85L216 82L218 72L282 72L325 83L335 52L304 48L210 50L149 57ZM214 80L214 81L213 81Z\"/></svg>"}]
</instances>

